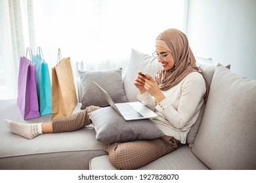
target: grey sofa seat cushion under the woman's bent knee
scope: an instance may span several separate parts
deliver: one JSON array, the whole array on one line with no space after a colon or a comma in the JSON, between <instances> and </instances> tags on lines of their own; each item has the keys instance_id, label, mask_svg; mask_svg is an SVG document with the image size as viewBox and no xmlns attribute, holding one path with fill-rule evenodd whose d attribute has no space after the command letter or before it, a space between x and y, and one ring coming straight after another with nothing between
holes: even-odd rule
<instances>
[{"instance_id":1,"label":"grey sofa seat cushion under the woman's bent knee","mask_svg":"<svg viewBox=\"0 0 256 183\"><path fill-rule=\"evenodd\" d=\"M98 156L90 161L91 170L116 170L108 155ZM152 163L141 167L140 170L207 170L206 167L194 154L188 146L181 146L177 150L156 159Z\"/></svg>"}]
</instances>

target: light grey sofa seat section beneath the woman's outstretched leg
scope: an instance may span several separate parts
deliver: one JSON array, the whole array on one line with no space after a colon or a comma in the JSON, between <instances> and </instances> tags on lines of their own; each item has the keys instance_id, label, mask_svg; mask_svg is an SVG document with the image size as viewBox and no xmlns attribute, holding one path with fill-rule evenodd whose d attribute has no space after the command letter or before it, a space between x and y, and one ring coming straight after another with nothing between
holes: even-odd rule
<instances>
[{"instance_id":1,"label":"light grey sofa seat section beneath the woman's outstretched leg","mask_svg":"<svg viewBox=\"0 0 256 183\"><path fill-rule=\"evenodd\" d=\"M75 112L81 105L77 105ZM3 120L49 122L51 115L23 120L16 100L0 101L0 169L89 169L89 160L107 154L107 144L95 140L95 129L43 134L32 140L15 135Z\"/></svg>"}]
</instances>

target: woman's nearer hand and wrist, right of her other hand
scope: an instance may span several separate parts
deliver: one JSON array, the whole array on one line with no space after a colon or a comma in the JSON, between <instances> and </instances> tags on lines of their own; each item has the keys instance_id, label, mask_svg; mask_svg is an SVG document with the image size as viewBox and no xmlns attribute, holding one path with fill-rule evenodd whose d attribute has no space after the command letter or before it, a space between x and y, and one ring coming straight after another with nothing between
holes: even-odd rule
<instances>
[{"instance_id":1,"label":"woman's nearer hand and wrist, right of her other hand","mask_svg":"<svg viewBox=\"0 0 256 183\"><path fill-rule=\"evenodd\" d=\"M150 95L153 95L156 98L158 103L160 103L160 101L165 99L165 95L163 95L163 92L161 92L158 83L156 82L156 80L154 80L154 78L152 78L152 76L148 74L145 74L145 76L146 79L144 83L144 88L148 93L150 93Z\"/></svg>"}]
</instances>

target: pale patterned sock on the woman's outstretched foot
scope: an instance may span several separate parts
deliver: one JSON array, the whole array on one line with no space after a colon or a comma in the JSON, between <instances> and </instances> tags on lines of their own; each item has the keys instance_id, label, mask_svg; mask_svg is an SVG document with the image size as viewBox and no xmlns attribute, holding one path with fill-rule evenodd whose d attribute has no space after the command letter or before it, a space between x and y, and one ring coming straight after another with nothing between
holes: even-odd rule
<instances>
[{"instance_id":1,"label":"pale patterned sock on the woman's outstretched foot","mask_svg":"<svg viewBox=\"0 0 256 183\"><path fill-rule=\"evenodd\" d=\"M25 137L26 139L33 139L39 134L42 134L42 124L22 124L5 120L5 124L12 133Z\"/></svg>"}]
</instances>

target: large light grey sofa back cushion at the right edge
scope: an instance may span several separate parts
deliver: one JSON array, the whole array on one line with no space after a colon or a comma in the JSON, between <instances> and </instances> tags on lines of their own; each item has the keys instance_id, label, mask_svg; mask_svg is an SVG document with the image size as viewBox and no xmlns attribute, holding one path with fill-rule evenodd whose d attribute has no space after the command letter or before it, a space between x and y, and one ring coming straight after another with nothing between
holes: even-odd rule
<instances>
[{"instance_id":1,"label":"large light grey sofa back cushion at the right edge","mask_svg":"<svg viewBox=\"0 0 256 183\"><path fill-rule=\"evenodd\" d=\"M256 80L217 66L192 152L210 169L256 169Z\"/></svg>"}]
</instances>

